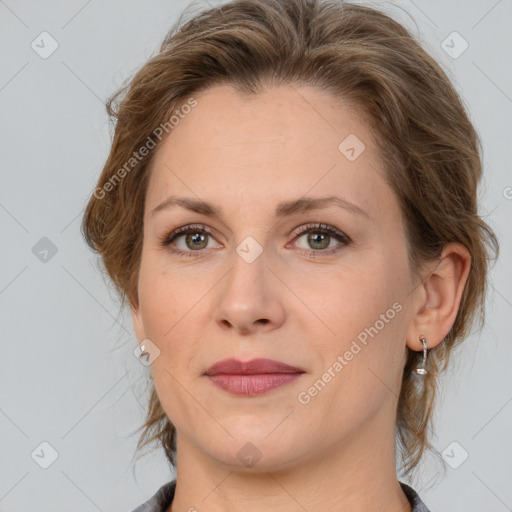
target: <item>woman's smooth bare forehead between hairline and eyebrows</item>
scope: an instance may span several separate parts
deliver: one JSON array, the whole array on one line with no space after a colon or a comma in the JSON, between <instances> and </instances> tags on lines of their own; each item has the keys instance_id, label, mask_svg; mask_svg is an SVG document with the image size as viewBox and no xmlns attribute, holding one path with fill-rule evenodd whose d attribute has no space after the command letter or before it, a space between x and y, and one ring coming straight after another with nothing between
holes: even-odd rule
<instances>
[{"instance_id":1,"label":"woman's smooth bare forehead between hairline and eyebrows","mask_svg":"<svg viewBox=\"0 0 512 512\"><path fill-rule=\"evenodd\" d=\"M369 127L343 100L311 86L244 95L219 85L194 98L155 154L148 208L171 193L269 208L306 194L370 211L394 200Z\"/></svg>"}]
</instances>

